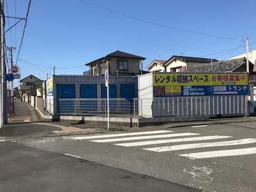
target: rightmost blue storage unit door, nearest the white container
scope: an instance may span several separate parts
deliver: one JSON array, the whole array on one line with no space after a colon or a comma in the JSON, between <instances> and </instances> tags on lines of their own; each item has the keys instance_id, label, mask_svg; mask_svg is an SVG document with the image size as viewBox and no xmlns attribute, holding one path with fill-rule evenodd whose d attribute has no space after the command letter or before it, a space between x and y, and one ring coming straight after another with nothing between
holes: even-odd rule
<instances>
[{"instance_id":1,"label":"rightmost blue storage unit door, nearest the white container","mask_svg":"<svg viewBox=\"0 0 256 192\"><path fill-rule=\"evenodd\" d=\"M120 97L125 100L122 101L122 108L127 112L133 111L134 104L134 84L121 84L120 85Z\"/></svg>"}]
</instances>

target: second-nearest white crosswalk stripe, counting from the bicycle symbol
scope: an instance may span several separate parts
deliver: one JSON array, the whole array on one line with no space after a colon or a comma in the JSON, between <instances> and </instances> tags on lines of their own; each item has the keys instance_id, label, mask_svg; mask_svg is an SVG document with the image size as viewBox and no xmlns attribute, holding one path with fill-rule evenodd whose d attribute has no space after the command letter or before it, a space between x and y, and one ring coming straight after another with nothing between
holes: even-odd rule
<instances>
[{"instance_id":1,"label":"second-nearest white crosswalk stripe, counting from the bicycle symbol","mask_svg":"<svg viewBox=\"0 0 256 192\"><path fill-rule=\"evenodd\" d=\"M191 143L185 145L171 145L164 147L153 147L153 148L143 148L144 150L150 150L154 152L167 152L173 150L184 150L189 148L204 148L204 147L221 147L221 146L231 146L231 145L244 145L256 143L256 139L248 138L244 140L232 140L232 141L220 141L211 143Z\"/></svg>"}]
</instances>

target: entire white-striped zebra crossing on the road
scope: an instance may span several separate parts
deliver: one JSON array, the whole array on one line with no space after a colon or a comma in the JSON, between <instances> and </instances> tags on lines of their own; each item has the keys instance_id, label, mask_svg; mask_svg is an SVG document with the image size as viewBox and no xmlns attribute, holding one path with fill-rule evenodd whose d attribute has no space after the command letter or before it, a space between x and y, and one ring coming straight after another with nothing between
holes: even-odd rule
<instances>
[{"instance_id":1,"label":"entire white-striped zebra crossing on the road","mask_svg":"<svg viewBox=\"0 0 256 192\"><path fill-rule=\"evenodd\" d=\"M92 136L73 136L63 138L70 140L88 140L95 143L111 143L112 145L121 147L141 147L142 150L147 150L151 152L178 151L179 156L189 157L193 159L256 154L256 145L255 147L244 148L246 147L246 145L256 143L256 138L234 140L232 136L203 136L202 134L193 132L175 133L173 131L161 130L127 132L118 134L99 134ZM154 145L154 147L151 145ZM212 147L216 148L231 146L236 146L236 148L211 150ZM209 150L203 152L200 151L202 149L205 150L205 148ZM198 150L198 152L182 153L182 150Z\"/></svg>"}]
</instances>

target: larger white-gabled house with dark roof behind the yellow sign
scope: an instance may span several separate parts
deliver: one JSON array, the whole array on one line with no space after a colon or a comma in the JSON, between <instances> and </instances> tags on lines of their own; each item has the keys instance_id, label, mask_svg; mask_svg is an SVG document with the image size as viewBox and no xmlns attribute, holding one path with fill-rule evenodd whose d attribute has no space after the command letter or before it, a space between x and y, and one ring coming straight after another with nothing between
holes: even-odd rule
<instances>
[{"instance_id":1,"label":"larger white-gabled house with dark roof behind the yellow sign","mask_svg":"<svg viewBox=\"0 0 256 192\"><path fill-rule=\"evenodd\" d=\"M166 72L185 72L194 65L202 65L205 63L215 62L218 60L209 58L194 58L188 56L172 56L168 61L164 63Z\"/></svg>"}]
</instances>

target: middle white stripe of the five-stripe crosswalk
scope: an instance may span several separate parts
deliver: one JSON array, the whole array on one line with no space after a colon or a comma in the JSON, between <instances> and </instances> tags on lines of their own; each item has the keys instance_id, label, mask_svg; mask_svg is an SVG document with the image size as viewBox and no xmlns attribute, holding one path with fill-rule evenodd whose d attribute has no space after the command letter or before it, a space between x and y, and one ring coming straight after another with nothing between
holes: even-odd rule
<instances>
[{"instance_id":1,"label":"middle white stripe of the five-stripe crosswalk","mask_svg":"<svg viewBox=\"0 0 256 192\"><path fill-rule=\"evenodd\" d=\"M202 136L195 138L179 138L172 140L155 140L155 141L140 141L140 142L132 142L132 143L116 143L114 145L124 146L124 147L133 147L133 146L142 146L142 145L155 145L162 143L175 143L175 142L184 142L184 141L202 141L202 140L219 140L225 138L232 138L232 136Z\"/></svg>"}]
</instances>

